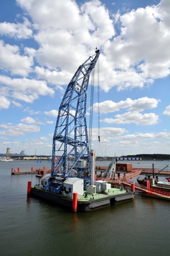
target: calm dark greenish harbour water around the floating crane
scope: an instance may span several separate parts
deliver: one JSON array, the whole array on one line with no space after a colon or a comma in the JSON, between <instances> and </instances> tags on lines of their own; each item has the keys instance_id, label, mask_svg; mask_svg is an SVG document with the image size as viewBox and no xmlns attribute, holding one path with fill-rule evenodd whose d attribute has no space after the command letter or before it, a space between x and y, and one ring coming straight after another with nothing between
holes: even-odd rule
<instances>
[{"instance_id":1,"label":"calm dark greenish harbour water around the floating crane","mask_svg":"<svg viewBox=\"0 0 170 256\"><path fill-rule=\"evenodd\" d=\"M132 162L133 167L141 168L151 168L153 163ZM96 165L108 163L99 161ZM168 163L154 161L155 168L160 169ZM39 178L35 174L11 176L11 167L31 170L31 166L48 168L51 163L0 161L0 255L169 255L169 201L141 197L135 192L131 202L92 212L68 212L27 198L28 181L36 184Z\"/></svg>"}]
</instances>

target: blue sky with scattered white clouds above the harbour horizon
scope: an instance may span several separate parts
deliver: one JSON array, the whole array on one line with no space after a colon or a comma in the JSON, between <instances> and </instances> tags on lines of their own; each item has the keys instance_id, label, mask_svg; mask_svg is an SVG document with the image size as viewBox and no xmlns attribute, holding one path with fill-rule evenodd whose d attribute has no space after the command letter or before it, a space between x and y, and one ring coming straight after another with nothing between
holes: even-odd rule
<instances>
[{"instance_id":1,"label":"blue sky with scattered white clouds above the harbour horizon","mask_svg":"<svg viewBox=\"0 0 170 256\"><path fill-rule=\"evenodd\" d=\"M0 1L0 153L52 154L64 92L97 47L96 156L170 154L169 13L169 0Z\"/></svg>"}]
</instances>

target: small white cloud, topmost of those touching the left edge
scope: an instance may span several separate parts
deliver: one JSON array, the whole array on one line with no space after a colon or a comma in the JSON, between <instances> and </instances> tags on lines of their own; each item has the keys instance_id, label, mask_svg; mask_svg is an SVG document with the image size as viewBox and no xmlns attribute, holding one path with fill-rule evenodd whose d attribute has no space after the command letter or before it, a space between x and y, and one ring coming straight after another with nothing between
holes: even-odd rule
<instances>
[{"instance_id":1,"label":"small white cloud, topmost of those touching the left edge","mask_svg":"<svg viewBox=\"0 0 170 256\"><path fill-rule=\"evenodd\" d=\"M31 23L24 17L23 23L0 23L0 34L16 38L29 38L32 36Z\"/></svg>"}]
</instances>

